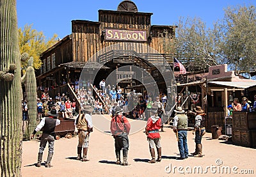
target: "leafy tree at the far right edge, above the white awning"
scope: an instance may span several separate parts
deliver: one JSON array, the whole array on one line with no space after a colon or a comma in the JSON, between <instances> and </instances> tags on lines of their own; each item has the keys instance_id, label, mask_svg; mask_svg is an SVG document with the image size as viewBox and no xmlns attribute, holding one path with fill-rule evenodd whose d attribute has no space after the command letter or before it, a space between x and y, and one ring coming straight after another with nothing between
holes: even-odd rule
<instances>
[{"instance_id":1,"label":"leafy tree at the far right edge, above the white awning","mask_svg":"<svg viewBox=\"0 0 256 177\"><path fill-rule=\"evenodd\" d=\"M215 24L214 33L220 63L227 63L235 71L256 68L255 6L228 7L224 19Z\"/></svg>"}]
</instances>

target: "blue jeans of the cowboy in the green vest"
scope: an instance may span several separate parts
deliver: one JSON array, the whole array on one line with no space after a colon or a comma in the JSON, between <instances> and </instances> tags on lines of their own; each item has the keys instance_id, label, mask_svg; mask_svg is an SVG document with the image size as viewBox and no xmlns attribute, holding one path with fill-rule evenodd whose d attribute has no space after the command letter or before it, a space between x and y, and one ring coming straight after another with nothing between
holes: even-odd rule
<instances>
[{"instance_id":1,"label":"blue jeans of the cowboy in the green vest","mask_svg":"<svg viewBox=\"0 0 256 177\"><path fill-rule=\"evenodd\" d=\"M186 130L178 131L178 137L179 137L178 146L179 146L181 158L188 157L187 135L188 135L188 132Z\"/></svg>"}]
</instances>

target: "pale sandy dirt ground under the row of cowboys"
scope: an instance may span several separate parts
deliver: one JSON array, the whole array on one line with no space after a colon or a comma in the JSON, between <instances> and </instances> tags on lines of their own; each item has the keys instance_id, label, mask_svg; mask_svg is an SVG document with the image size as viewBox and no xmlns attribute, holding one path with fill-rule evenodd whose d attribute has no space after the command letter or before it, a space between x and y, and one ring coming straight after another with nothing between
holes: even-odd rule
<instances>
[{"instance_id":1,"label":"pale sandy dirt ground under the row of cowboys","mask_svg":"<svg viewBox=\"0 0 256 177\"><path fill-rule=\"evenodd\" d=\"M99 115L94 115L93 121L102 122ZM141 121L141 123L146 122ZM256 157L254 148L244 148L218 139L211 139L209 133L205 134L202 140L204 157L176 160L179 157L177 139L172 128L164 127L164 130L165 132L160 133L162 161L156 164L147 163L151 157L147 137L143 130L129 135L128 162L130 165L128 166L115 164L114 139L97 128L94 128L90 135L88 150L90 161L88 162L76 160L78 137L72 137L72 139L63 137L55 141L52 167L45 168L44 163L41 167L36 167L40 142L24 141L22 176L179 176L184 174L198 176L198 171L199 174L207 176L231 176L236 173L237 176L241 176L242 173L256 173L255 160L253 160ZM189 153L195 151L194 138L195 135L189 131ZM46 148L44 151L43 162L47 158L47 150Z\"/></svg>"}]
</instances>

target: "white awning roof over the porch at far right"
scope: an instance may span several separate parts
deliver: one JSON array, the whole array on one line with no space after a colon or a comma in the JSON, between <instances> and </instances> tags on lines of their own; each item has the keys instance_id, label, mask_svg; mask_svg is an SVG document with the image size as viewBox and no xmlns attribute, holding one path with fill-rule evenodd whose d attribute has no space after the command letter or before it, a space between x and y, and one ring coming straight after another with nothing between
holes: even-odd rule
<instances>
[{"instance_id":1,"label":"white awning roof over the porch at far right","mask_svg":"<svg viewBox=\"0 0 256 177\"><path fill-rule=\"evenodd\" d=\"M255 82L225 82L225 81L210 81L208 84L216 84L220 86L228 86L232 88L250 88L252 86L256 86L256 81Z\"/></svg>"}]
</instances>

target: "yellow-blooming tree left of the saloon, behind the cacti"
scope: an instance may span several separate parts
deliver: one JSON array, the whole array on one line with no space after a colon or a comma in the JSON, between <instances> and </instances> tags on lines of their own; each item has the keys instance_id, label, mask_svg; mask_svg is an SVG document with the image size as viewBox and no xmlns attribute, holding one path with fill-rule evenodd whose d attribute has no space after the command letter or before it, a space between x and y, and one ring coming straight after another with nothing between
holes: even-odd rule
<instances>
[{"instance_id":1,"label":"yellow-blooming tree left of the saloon, behind the cacti","mask_svg":"<svg viewBox=\"0 0 256 177\"><path fill-rule=\"evenodd\" d=\"M36 29L32 29L32 27L32 25L26 25L23 30L19 28L19 47L21 54L27 52L29 56L33 57L33 67L38 69L42 65L40 54L57 42L57 35L47 40L42 31L38 32ZM28 66L28 59L21 61L21 66L26 68Z\"/></svg>"}]
</instances>

